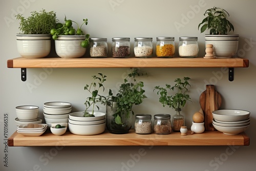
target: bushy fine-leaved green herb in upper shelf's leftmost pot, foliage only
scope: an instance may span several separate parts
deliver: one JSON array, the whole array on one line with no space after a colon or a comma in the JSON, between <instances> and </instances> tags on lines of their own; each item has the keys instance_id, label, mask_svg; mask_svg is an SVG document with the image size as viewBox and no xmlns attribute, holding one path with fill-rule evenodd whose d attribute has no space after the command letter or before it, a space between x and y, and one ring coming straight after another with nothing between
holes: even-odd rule
<instances>
[{"instance_id":1,"label":"bushy fine-leaved green herb in upper shelf's leftmost pot, foliage only","mask_svg":"<svg viewBox=\"0 0 256 171\"><path fill-rule=\"evenodd\" d=\"M20 20L19 30L24 34L50 34L51 28L58 22L54 11L46 12L44 9L39 12L32 11L29 17L22 14L15 17Z\"/></svg>"}]
</instances>

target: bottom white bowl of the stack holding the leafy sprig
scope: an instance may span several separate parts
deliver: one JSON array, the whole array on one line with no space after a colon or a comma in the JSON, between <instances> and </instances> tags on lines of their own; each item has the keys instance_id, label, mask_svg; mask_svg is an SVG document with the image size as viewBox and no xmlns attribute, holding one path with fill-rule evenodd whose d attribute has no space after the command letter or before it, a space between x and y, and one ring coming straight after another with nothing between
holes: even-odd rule
<instances>
[{"instance_id":1,"label":"bottom white bowl of the stack holding the leafy sprig","mask_svg":"<svg viewBox=\"0 0 256 171\"><path fill-rule=\"evenodd\" d=\"M97 135L105 131L106 123L96 125L77 125L69 123L69 131L76 135Z\"/></svg>"}]
</instances>

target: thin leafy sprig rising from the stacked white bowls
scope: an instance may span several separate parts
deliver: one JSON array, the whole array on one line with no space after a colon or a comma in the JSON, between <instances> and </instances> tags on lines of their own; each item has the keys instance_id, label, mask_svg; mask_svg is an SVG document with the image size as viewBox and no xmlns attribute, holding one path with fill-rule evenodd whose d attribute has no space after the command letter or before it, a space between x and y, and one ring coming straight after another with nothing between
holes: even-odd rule
<instances>
[{"instance_id":1,"label":"thin leafy sprig rising from the stacked white bowls","mask_svg":"<svg viewBox=\"0 0 256 171\"><path fill-rule=\"evenodd\" d=\"M90 94L91 97L87 97L86 102L84 104L86 105L86 110L84 111L83 117L95 117L94 116L94 108L96 107L99 110L99 106L96 105L96 103L101 102L103 103L104 101L107 100L105 96L102 96L99 94L99 90L102 89L104 92L105 88L103 86L103 82L106 81L106 76L98 73L99 76L93 75L93 80L91 84L86 84L84 87L84 90L87 90ZM92 113L90 114L88 112L89 108L92 107Z\"/></svg>"}]
</instances>

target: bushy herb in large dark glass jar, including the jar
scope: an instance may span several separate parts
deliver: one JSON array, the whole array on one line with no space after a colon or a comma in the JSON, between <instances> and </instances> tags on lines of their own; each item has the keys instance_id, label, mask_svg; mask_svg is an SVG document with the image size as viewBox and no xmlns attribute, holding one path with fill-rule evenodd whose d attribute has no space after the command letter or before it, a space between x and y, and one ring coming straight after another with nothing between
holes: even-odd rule
<instances>
[{"instance_id":1,"label":"bushy herb in large dark glass jar, including the jar","mask_svg":"<svg viewBox=\"0 0 256 171\"><path fill-rule=\"evenodd\" d=\"M132 127L132 110L134 105L142 103L146 98L144 83L137 81L138 69L134 69L113 96L110 90L110 100L106 101L106 127L112 134L126 134Z\"/></svg>"}]
</instances>

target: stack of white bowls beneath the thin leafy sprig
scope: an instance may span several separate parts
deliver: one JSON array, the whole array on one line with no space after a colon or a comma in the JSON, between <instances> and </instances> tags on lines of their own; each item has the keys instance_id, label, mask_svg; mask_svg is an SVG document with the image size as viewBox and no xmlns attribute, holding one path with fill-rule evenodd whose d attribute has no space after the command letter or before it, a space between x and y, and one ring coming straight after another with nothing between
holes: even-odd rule
<instances>
[{"instance_id":1,"label":"stack of white bowls beneath the thin leafy sprig","mask_svg":"<svg viewBox=\"0 0 256 171\"><path fill-rule=\"evenodd\" d=\"M105 131L105 113L94 112L95 117L83 117L83 114L84 112L74 112L69 114L69 131L72 134L97 135Z\"/></svg>"}]
</instances>

